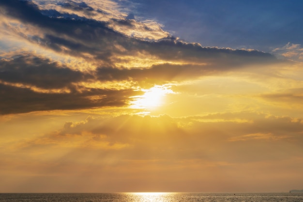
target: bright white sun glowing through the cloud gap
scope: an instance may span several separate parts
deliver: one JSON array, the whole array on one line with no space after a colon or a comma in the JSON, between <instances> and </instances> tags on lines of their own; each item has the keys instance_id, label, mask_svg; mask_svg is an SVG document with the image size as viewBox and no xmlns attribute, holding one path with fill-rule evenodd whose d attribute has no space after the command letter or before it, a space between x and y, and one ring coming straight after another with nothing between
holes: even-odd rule
<instances>
[{"instance_id":1,"label":"bright white sun glowing through the cloud gap","mask_svg":"<svg viewBox=\"0 0 303 202\"><path fill-rule=\"evenodd\" d=\"M164 104L164 97L168 93L174 93L170 87L154 86L150 89L143 89L145 93L140 96L134 96L135 100L131 107L135 109L155 109Z\"/></svg>"}]
</instances>

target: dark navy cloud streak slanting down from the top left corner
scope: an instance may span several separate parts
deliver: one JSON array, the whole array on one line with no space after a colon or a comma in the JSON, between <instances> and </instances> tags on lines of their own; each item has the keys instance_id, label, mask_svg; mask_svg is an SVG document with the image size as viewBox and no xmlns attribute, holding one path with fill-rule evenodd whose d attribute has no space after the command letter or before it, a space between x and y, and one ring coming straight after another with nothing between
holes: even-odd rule
<instances>
[{"instance_id":1,"label":"dark navy cloud streak slanting down from the top left corner","mask_svg":"<svg viewBox=\"0 0 303 202\"><path fill-rule=\"evenodd\" d=\"M99 37L100 34L106 34L108 37L119 35L117 32L108 28L106 26L106 22L86 19L83 17L71 19L42 15L37 6L30 1L4 0L0 2L0 5L6 8L4 11L5 15L17 18L24 23L39 26L40 29L55 31L57 34L66 34L82 40L93 40L96 39L96 37ZM44 10L43 12L46 11ZM81 30L85 33L76 30ZM99 32L94 33L97 31Z\"/></svg>"}]
</instances>

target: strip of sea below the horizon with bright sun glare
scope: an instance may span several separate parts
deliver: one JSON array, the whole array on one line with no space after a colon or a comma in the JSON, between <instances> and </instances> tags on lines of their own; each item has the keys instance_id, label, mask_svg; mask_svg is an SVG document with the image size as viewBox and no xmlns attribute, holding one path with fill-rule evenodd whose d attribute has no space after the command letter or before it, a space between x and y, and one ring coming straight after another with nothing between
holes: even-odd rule
<instances>
[{"instance_id":1,"label":"strip of sea below the horizon with bright sun glare","mask_svg":"<svg viewBox=\"0 0 303 202\"><path fill-rule=\"evenodd\" d=\"M0 202L303 202L303 193L0 193Z\"/></svg>"}]
</instances>

